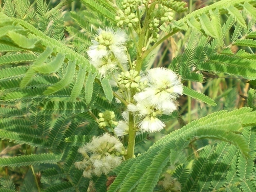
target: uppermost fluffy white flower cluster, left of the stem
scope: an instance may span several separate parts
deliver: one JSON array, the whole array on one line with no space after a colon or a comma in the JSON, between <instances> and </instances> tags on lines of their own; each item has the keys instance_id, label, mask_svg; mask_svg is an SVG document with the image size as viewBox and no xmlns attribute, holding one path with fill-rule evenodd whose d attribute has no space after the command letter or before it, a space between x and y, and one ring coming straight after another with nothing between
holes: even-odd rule
<instances>
[{"instance_id":1,"label":"uppermost fluffy white flower cluster, left of the stem","mask_svg":"<svg viewBox=\"0 0 256 192\"><path fill-rule=\"evenodd\" d=\"M111 75L118 66L127 63L125 41L127 35L122 30L99 29L98 35L92 40L93 45L87 51L92 65L101 76Z\"/></svg>"}]
</instances>

